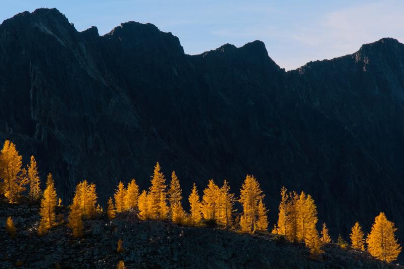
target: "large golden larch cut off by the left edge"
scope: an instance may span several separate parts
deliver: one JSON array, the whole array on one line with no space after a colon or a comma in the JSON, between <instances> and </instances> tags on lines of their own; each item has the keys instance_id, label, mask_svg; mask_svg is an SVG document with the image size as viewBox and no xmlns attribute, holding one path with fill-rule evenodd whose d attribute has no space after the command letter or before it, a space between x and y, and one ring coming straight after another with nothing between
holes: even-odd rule
<instances>
[{"instance_id":1,"label":"large golden larch cut off by the left edge","mask_svg":"<svg viewBox=\"0 0 404 269\"><path fill-rule=\"evenodd\" d=\"M26 170L22 169L22 156L16 145L6 140L0 152L0 178L3 179L2 190L10 203L18 202L24 185L28 183Z\"/></svg>"}]
</instances>

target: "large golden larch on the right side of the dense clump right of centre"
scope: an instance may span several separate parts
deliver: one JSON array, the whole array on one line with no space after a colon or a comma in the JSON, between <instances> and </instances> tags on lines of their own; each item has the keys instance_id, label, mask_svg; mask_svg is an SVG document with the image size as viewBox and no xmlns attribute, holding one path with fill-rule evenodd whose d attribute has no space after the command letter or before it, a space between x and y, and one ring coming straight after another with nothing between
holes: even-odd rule
<instances>
[{"instance_id":1,"label":"large golden larch on the right side of the dense clump right of centre","mask_svg":"<svg viewBox=\"0 0 404 269\"><path fill-rule=\"evenodd\" d=\"M297 210L297 239L305 240L306 233L309 227L314 224L316 226L317 218L317 207L311 195L301 192L299 199L296 204Z\"/></svg>"}]
</instances>

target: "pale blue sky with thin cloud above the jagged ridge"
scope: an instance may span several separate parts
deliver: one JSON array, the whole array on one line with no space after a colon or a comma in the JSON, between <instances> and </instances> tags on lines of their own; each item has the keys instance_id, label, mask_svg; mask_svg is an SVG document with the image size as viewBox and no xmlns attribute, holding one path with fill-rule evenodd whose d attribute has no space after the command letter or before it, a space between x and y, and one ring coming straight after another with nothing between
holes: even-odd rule
<instances>
[{"instance_id":1,"label":"pale blue sky with thin cloud above the jagged ridge","mask_svg":"<svg viewBox=\"0 0 404 269\"><path fill-rule=\"evenodd\" d=\"M178 36L190 55L258 39L286 70L354 53L382 37L404 41L402 0L0 0L0 7L0 22L57 8L77 30L96 26L100 35L122 22L153 23Z\"/></svg>"}]
</instances>

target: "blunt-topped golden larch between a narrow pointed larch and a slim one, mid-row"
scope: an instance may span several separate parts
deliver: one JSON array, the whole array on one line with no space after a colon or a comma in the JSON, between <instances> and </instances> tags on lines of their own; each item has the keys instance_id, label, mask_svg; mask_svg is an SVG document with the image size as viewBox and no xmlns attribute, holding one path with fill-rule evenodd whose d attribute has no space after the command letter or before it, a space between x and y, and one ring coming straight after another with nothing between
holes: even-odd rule
<instances>
[{"instance_id":1,"label":"blunt-topped golden larch between a narrow pointed larch and a slim one, mid-row","mask_svg":"<svg viewBox=\"0 0 404 269\"><path fill-rule=\"evenodd\" d=\"M218 204L220 203L219 187L213 179L208 182L208 187L204 190L202 196L202 213L205 220L218 220ZM220 212L219 212L220 213Z\"/></svg>"}]
</instances>

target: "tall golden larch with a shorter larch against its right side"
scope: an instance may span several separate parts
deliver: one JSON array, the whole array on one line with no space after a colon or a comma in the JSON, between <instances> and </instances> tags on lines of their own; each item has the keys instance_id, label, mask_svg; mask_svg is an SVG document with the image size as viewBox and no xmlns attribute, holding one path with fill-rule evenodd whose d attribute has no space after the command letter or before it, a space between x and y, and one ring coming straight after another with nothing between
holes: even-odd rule
<instances>
[{"instance_id":1,"label":"tall golden larch with a shorter larch against its right side","mask_svg":"<svg viewBox=\"0 0 404 269\"><path fill-rule=\"evenodd\" d=\"M240 189L239 202L243 207L240 226L243 232L252 233L256 230L258 205L264 194L254 176L247 175Z\"/></svg>"}]
</instances>

